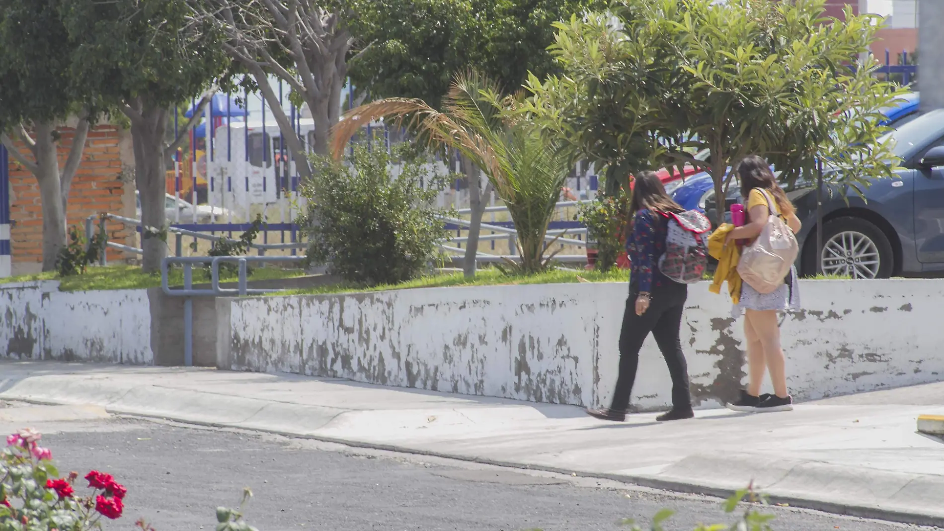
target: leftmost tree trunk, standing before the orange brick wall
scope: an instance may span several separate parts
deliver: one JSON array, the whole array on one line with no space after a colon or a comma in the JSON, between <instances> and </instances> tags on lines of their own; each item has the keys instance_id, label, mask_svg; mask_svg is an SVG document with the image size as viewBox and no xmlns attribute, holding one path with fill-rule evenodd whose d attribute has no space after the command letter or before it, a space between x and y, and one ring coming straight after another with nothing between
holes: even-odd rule
<instances>
[{"instance_id":1,"label":"leftmost tree trunk, standing before the orange brick wall","mask_svg":"<svg viewBox=\"0 0 944 531\"><path fill-rule=\"evenodd\" d=\"M56 270L59 252L66 246L65 204L59 183L59 152L51 122L36 124L36 180L42 201L42 270Z\"/></svg>"}]
</instances>

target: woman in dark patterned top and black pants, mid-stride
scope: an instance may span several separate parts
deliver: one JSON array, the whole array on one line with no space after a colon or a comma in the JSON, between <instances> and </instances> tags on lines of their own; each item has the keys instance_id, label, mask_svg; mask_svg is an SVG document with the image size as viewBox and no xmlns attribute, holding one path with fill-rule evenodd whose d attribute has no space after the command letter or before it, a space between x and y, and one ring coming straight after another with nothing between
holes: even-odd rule
<instances>
[{"instance_id":1,"label":"woman in dark patterned top and black pants, mid-stride","mask_svg":"<svg viewBox=\"0 0 944 531\"><path fill-rule=\"evenodd\" d=\"M626 300L623 326L619 333L619 375L609 408L587 409L601 420L626 420L632 384L639 366L639 350L649 333L655 337L666 358L672 377L672 409L656 420L681 420L695 416L688 386L688 368L679 340L688 285L676 283L659 272L659 257L666 252L667 216L683 212L666 194L655 172L639 173L633 184L626 240L631 263L630 296Z\"/></svg>"}]
</instances>

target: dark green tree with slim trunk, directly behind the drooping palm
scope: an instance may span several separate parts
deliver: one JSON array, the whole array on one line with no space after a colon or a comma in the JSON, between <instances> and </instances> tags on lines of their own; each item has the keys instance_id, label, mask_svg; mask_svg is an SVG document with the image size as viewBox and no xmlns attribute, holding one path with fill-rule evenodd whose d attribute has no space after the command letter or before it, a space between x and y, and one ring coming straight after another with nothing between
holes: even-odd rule
<instances>
[{"instance_id":1,"label":"dark green tree with slim trunk, directly behind the drooping palm","mask_svg":"<svg viewBox=\"0 0 944 531\"><path fill-rule=\"evenodd\" d=\"M512 93L529 72L545 77L557 63L548 52L551 23L601 0L354 0L348 26L363 48L351 59L356 88L374 97L422 100L442 108L450 79L473 68L494 79L500 92ZM465 248L465 273L474 274L479 227L489 184L461 155L469 181L471 225Z\"/></svg>"}]
</instances>

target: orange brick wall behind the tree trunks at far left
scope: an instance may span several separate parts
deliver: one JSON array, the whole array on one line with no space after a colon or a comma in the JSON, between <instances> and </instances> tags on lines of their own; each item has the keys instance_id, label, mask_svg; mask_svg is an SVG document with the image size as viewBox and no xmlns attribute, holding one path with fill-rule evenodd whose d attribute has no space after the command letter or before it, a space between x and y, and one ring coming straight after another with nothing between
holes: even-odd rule
<instances>
[{"instance_id":1,"label":"orange brick wall behind the tree trunks at far left","mask_svg":"<svg viewBox=\"0 0 944 531\"><path fill-rule=\"evenodd\" d=\"M72 148L74 131L72 128L62 128L60 131L59 161L63 164ZM111 125L97 126L89 131L82 163L72 181L69 196L66 218L70 227L79 225L84 228L86 217L102 212L134 216L133 210L126 212L128 201L124 197L128 190L133 197L133 184L121 180L123 164L119 144L123 134L124 131ZM25 146L21 150L27 152ZM31 158L31 154L27 157ZM42 202L39 184L33 174L12 157L9 165L13 273L36 272L42 267ZM132 198L132 209L133 205ZM110 223L108 231L110 240L122 243L132 236L132 231L119 223ZM119 261L125 256L121 251L109 249L108 258L110 261Z\"/></svg>"}]
</instances>

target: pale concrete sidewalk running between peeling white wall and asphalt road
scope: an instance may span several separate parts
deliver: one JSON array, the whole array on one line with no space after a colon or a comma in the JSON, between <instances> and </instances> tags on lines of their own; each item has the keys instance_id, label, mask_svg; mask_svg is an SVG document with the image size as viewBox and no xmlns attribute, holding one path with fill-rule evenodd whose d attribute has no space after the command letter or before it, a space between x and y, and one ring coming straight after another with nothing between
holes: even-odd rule
<instances>
[{"instance_id":1,"label":"pale concrete sidewalk running between peeling white wall and asphalt road","mask_svg":"<svg viewBox=\"0 0 944 531\"><path fill-rule=\"evenodd\" d=\"M726 495L751 481L775 503L944 525L944 383L803 403L793 412L699 411L625 423L573 406L189 368L0 363L0 399L316 437Z\"/></svg>"}]
</instances>

